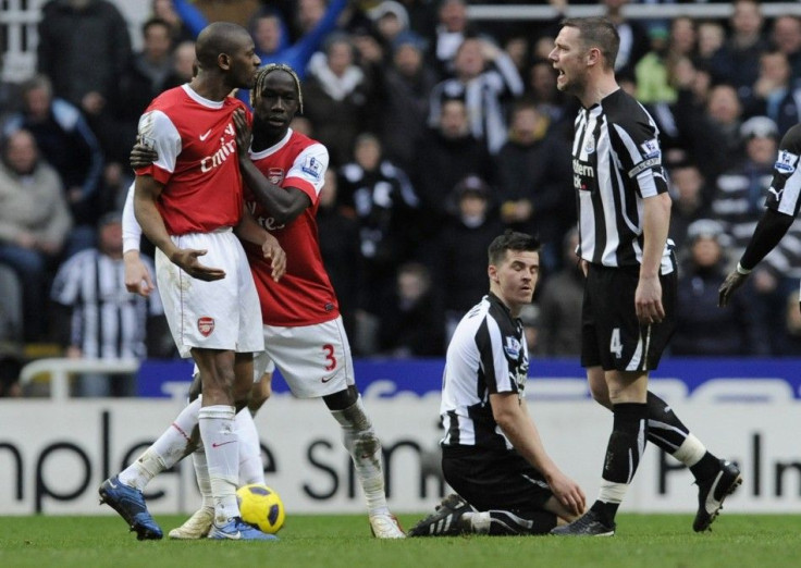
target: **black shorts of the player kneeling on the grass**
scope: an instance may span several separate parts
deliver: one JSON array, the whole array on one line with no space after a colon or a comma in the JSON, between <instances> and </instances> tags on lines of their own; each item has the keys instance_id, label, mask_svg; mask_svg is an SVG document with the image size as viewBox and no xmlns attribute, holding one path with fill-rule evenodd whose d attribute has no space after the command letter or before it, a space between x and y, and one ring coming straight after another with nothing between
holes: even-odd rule
<instances>
[{"instance_id":1,"label":"black shorts of the player kneeling on the grass","mask_svg":"<svg viewBox=\"0 0 801 568\"><path fill-rule=\"evenodd\" d=\"M553 492L517 452L444 446L442 471L456 493L478 510L500 509L528 518L543 511Z\"/></svg>"}]
</instances>

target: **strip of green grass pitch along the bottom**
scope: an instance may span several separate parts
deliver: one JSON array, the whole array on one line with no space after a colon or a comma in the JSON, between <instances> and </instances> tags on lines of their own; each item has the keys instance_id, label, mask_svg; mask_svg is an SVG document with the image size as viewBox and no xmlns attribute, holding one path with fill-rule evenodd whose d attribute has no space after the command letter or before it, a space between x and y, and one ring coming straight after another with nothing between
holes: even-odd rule
<instances>
[{"instance_id":1,"label":"strip of green grass pitch along the bottom","mask_svg":"<svg viewBox=\"0 0 801 568\"><path fill-rule=\"evenodd\" d=\"M402 515L408 528L421 516ZM157 516L167 532L185 517ZM106 517L0 517L0 566L201 567L797 567L801 515L724 514L712 533L689 515L619 515L609 539L456 536L379 541L362 515L292 515L280 542L136 540Z\"/></svg>"}]
</instances>

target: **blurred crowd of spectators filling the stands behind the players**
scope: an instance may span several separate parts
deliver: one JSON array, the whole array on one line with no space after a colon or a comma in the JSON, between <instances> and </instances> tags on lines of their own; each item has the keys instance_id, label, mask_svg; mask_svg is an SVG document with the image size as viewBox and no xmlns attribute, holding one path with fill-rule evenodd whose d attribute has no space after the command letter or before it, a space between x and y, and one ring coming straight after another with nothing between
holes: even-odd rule
<instances>
[{"instance_id":1,"label":"blurred crowd of spectators filling the stands behind the players","mask_svg":"<svg viewBox=\"0 0 801 568\"><path fill-rule=\"evenodd\" d=\"M554 17L471 21L471 3L547 3ZM293 127L331 155L320 244L357 356L444 355L488 291L490 240L514 227L543 243L530 347L575 357L577 102L556 90L547 55L567 10L600 4L620 33L619 82L662 133L681 263L670 353L801 355L798 223L734 306L716 307L763 211L778 140L801 121L801 16L738 0L722 2L727 17L643 20L626 16L628 3L152 0L139 38L114 2L45 3L35 73L0 84L2 353L174 356L158 298L122 284L127 156L149 101L190 78L197 33L231 20L262 63L298 72L305 113Z\"/></svg>"}]
</instances>

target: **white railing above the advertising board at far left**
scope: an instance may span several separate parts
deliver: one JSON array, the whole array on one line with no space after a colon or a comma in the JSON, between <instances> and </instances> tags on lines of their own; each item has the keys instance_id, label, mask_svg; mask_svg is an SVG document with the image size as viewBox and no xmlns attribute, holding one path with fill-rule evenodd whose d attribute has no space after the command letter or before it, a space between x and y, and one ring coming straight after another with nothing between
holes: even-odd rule
<instances>
[{"instance_id":1,"label":"white railing above the advertising board at far left","mask_svg":"<svg viewBox=\"0 0 801 568\"><path fill-rule=\"evenodd\" d=\"M133 374L139 370L138 359L37 359L23 367L20 384L25 386L40 374L50 375L50 398L64 400L70 397L70 374L104 373Z\"/></svg>"}]
</instances>

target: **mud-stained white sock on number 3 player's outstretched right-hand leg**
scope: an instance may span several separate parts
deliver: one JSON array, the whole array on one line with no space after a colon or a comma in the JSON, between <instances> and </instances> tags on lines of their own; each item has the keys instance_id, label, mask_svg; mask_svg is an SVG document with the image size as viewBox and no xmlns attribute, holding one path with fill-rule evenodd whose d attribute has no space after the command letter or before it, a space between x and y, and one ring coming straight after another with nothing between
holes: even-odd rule
<instances>
[{"instance_id":1,"label":"mud-stained white sock on number 3 player's outstretched right-hand leg","mask_svg":"<svg viewBox=\"0 0 801 568\"><path fill-rule=\"evenodd\" d=\"M384 493L384 470L381 466L381 442L365 412L361 396L344 410L331 415L342 427L343 442L354 460L356 476L365 492L368 515L389 514Z\"/></svg>"}]
</instances>

